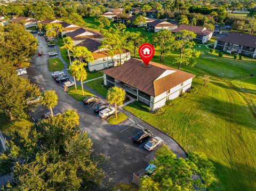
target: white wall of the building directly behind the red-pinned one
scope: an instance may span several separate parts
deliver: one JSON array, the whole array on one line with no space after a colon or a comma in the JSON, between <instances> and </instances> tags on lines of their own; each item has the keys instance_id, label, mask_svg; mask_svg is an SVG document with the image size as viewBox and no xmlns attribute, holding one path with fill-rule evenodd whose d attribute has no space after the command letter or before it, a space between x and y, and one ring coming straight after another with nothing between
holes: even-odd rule
<instances>
[{"instance_id":1,"label":"white wall of the building directly behind the red-pinned one","mask_svg":"<svg viewBox=\"0 0 256 191\"><path fill-rule=\"evenodd\" d=\"M123 64L125 61L131 59L130 52L123 53L121 56L122 56L121 64ZM103 60L103 59L105 59L105 60ZM120 60L119 54L113 56L113 59L111 58L111 56L107 56L104 58L102 57L100 59L95 59L93 62L88 63L88 69L90 71L93 71L93 70L102 70L105 68L113 67L113 60L114 60L114 66L117 65L117 61Z\"/></svg>"}]
</instances>

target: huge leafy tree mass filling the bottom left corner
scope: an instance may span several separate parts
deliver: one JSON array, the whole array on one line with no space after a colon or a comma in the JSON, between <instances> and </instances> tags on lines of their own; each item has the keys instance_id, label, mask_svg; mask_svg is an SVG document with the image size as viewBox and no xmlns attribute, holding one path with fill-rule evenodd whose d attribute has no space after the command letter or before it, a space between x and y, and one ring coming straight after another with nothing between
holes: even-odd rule
<instances>
[{"instance_id":1,"label":"huge leafy tree mass filling the bottom left corner","mask_svg":"<svg viewBox=\"0 0 256 191\"><path fill-rule=\"evenodd\" d=\"M106 159L92 155L91 139L78 123L78 114L68 110L31 127L27 136L13 134L0 156L1 174L13 175L4 190L97 189Z\"/></svg>"}]
</instances>

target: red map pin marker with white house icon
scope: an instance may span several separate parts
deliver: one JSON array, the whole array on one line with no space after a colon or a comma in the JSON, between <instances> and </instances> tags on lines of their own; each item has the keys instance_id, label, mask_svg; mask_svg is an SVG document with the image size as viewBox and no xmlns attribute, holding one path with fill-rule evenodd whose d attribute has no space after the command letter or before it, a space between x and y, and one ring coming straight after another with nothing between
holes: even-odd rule
<instances>
[{"instance_id":1,"label":"red map pin marker with white house icon","mask_svg":"<svg viewBox=\"0 0 256 191\"><path fill-rule=\"evenodd\" d=\"M144 43L140 45L139 55L143 60L143 62L145 63L145 65L148 65L148 63L150 62L154 54L155 54L155 48L151 44Z\"/></svg>"}]
</instances>

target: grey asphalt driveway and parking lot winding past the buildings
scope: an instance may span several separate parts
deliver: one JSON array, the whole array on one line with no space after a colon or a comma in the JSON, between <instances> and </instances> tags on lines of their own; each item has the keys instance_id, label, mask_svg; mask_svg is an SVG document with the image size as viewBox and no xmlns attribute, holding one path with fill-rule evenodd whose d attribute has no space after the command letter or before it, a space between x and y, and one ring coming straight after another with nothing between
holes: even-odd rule
<instances>
[{"instance_id":1,"label":"grey asphalt driveway and parking lot winding past the buildings","mask_svg":"<svg viewBox=\"0 0 256 191\"><path fill-rule=\"evenodd\" d=\"M92 139L94 151L103 153L109 157L108 163L103 167L103 170L106 172L106 178L103 181L104 185L111 186L117 182L131 182L133 172L139 175L146 168L148 162L154 159L155 151L148 152L143 148L146 141L139 145L132 142L132 136L140 132L143 128L147 128L154 135L161 137L164 143L177 156L187 156L173 139L134 117L129 112L122 111L129 116L129 120L127 119L118 125L111 125L106 120L101 120L92 111L92 105L85 106L82 102L77 102L67 93L63 92L61 84L57 84L52 79L51 73L47 69L47 59L49 58L47 51L54 48L47 47L43 37L35 36L38 39L38 51L43 52L43 55L41 57L37 55L33 57L31 65L27 69L28 78L42 90L53 89L56 91L59 101L54 109L61 112L67 109L77 111L80 117L79 125L83 130L87 131L88 136ZM67 73L66 67L63 71ZM89 87L85 88L89 89ZM119 108L119 110L122 109ZM36 120L47 111L47 109L39 105L35 112L31 114Z\"/></svg>"}]
</instances>

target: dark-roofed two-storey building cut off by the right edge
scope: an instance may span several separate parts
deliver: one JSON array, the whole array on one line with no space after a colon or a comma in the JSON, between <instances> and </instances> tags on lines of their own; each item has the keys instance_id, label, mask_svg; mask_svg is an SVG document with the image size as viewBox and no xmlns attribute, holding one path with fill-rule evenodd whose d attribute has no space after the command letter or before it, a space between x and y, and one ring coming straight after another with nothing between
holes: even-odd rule
<instances>
[{"instance_id":1,"label":"dark-roofed two-storey building cut off by the right edge","mask_svg":"<svg viewBox=\"0 0 256 191\"><path fill-rule=\"evenodd\" d=\"M214 48L226 52L237 52L253 59L256 58L256 36L231 32L226 37L218 38Z\"/></svg>"}]
</instances>

